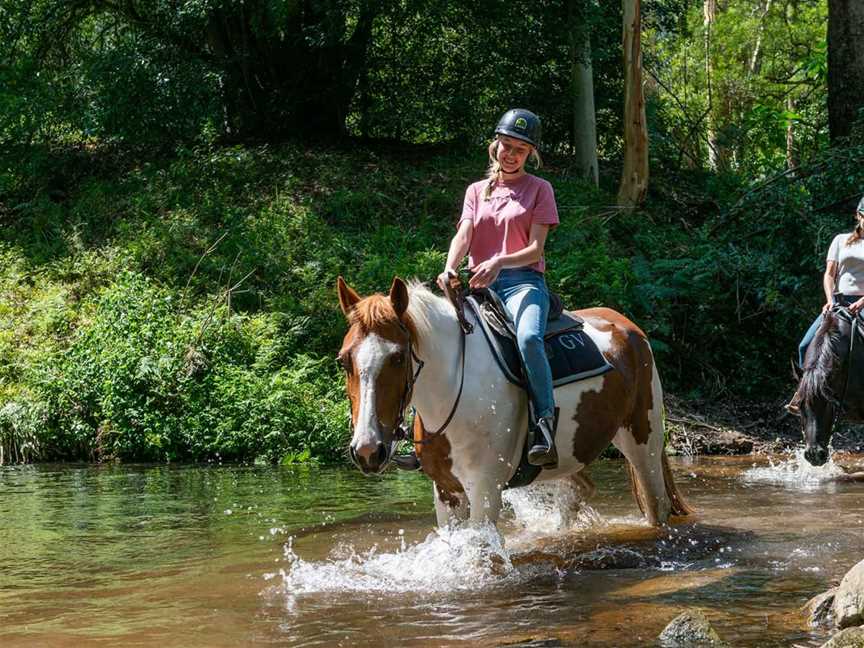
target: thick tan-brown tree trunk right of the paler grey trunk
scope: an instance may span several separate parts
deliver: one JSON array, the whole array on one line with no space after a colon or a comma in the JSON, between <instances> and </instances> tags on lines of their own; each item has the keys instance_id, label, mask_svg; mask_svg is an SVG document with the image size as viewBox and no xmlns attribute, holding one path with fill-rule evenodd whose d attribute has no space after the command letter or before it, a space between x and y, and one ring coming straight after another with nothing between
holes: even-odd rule
<instances>
[{"instance_id":1,"label":"thick tan-brown tree trunk right of the paler grey trunk","mask_svg":"<svg viewBox=\"0 0 864 648\"><path fill-rule=\"evenodd\" d=\"M648 128L642 91L641 0L623 0L624 8L624 170L618 204L634 207L648 191Z\"/></svg>"}]
</instances>

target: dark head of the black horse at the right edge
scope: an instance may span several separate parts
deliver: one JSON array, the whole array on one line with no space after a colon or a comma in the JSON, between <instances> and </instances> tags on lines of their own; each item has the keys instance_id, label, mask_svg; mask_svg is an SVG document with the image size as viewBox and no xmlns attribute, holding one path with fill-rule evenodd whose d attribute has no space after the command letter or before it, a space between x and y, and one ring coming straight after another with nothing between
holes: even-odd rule
<instances>
[{"instance_id":1,"label":"dark head of the black horse at the right edge","mask_svg":"<svg viewBox=\"0 0 864 648\"><path fill-rule=\"evenodd\" d=\"M804 357L798 386L801 431L806 446L804 458L814 466L828 461L835 417L845 397L850 328L845 318L825 313Z\"/></svg>"}]
</instances>

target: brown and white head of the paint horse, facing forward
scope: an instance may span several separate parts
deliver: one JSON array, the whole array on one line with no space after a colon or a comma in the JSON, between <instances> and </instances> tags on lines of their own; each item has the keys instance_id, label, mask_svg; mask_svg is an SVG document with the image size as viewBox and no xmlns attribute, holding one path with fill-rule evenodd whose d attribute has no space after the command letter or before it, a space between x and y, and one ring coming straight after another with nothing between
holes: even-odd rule
<instances>
[{"instance_id":1,"label":"brown and white head of the paint horse, facing forward","mask_svg":"<svg viewBox=\"0 0 864 648\"><path fill-rule=\"evenodd\" d=\"M339 277L337 291L349 324L338 355L351 401L348 452L364 474L380 473L390 463L411 399L416 333L405 314L408 288L396 277L388 296L362 298Z\"/></svg>"}]
</instances>

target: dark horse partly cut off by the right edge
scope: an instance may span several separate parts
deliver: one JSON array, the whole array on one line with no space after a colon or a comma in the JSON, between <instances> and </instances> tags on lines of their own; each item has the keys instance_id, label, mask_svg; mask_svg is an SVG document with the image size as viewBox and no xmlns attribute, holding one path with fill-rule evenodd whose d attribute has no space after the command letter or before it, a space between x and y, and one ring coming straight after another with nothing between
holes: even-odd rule
<instances>
[{"instance_id":1,"label":"dark horse partly cut off by the right edge","mask_svg":"<svg viewBox=\"0 0 864 648\"><path fill-rule=\"evenodd\" d=\"M828 461L834 425L842 417L864 422L864 321L843 306L825 313L804 356L798 385L804 457L814 466Z\"/></svg>"}]
</instances>

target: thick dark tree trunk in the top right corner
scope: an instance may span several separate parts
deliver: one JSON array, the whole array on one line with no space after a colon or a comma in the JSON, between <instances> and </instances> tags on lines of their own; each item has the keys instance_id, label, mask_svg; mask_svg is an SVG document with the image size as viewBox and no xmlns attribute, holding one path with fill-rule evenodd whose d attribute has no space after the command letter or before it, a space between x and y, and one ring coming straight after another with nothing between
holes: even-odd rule
<instances>
[{"instance_id":1,"label":"thick dark tree trunk in the top right corner","mask_svg":"<svg viewBox=\"0 0 864 648\"><path fill-rule=\"evenodd\" d=\"M852 132L864 108L864 2L828 0L828 129L831 141Z\"/></svg>"}]
</instances>

